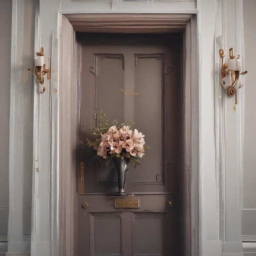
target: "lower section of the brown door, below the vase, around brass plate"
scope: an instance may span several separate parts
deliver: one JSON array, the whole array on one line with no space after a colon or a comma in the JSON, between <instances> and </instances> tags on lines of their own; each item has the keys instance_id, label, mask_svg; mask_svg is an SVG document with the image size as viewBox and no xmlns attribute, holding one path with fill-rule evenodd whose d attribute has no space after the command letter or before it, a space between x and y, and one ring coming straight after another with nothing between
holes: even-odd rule
<instances>
[{"instance_id":1,"label":"lower section of the brown door, below the vase, around brass plate","mask_svg":"<svg viewBox=\"0 0 256 256\"><path fill-rule=\"evenodd\" d=\"M139 209L116 209L117 198L79 196L79 256L179 255L173 195L129 196L140 200ZM174 207L168 207L169 201ZM85 209L81 207L83 202L88 203Z\"/></svg>"}]
</instances>

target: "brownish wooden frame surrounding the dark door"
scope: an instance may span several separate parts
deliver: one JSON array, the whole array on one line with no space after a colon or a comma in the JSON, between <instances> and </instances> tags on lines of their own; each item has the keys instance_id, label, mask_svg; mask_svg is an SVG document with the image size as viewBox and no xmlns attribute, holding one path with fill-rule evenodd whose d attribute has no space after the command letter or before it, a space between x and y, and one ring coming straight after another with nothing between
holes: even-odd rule
<instances>
[{"instance_id":1,"label":"brownish wooden frame surrounding the dark door","mask_svg":"<svg viewBox=\"0 0 256 256\"><path fill-rule=\"evenodd\" d=\"M59 14L59 255L77 255L78 187L76 151L79 141L81 45L76 32L183 31L182 60L182 244L186 256L200 255L200 119L196 14ZM102 22L104 20L105 22ZM122 22L120 22L122 21Z\"/></svg>"}]
</instances>

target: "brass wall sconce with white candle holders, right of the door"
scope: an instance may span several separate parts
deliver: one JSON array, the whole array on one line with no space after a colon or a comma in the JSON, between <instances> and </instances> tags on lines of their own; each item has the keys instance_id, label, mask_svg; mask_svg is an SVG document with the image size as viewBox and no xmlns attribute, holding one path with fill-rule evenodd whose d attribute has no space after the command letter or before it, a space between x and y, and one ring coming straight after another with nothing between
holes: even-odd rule
<instances>
[{"instance_id":1,"label":"brass wall sconce with white candle holders, right of the door","mask_svg":"<svg viewBox=\"0 0 256 256\"><path fill-rule=\"evenodd\" d=\"M235 96L236 104L237 104L237 96L236 91L238 88L242 88L243 85L241 85L241 76L247 73L240 72L241 71L241 60L240 56L236 58L233 55L233 48L229 49L229 59L227 60L227 63L224 63L225 58L225 51L223 49L220 49L220 57L222 58L222 66L221 66L221 84L225 90L227 90L227 94L230 97Z\"/></svg>"}]
</instances>

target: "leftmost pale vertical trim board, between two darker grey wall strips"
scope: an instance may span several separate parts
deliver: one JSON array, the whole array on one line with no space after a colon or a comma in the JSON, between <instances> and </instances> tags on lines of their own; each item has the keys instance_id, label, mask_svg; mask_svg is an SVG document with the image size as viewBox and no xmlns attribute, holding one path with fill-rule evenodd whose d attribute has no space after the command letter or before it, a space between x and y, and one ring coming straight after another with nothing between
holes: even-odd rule
<instances>
[{"instance_id":1,"label":"leftmost pale vertical trim board, between two darker grey wall strips","mask_svg":"<svg viewBox=\"0 0 256 256\"><path fill-rule=\"evenodd\" d=\"M13 0L12 5L12 27L11 27L11 92L10 92L10 143L9 143L9 225L8 225L8 241L21 241L22 236L22 193L18 193L16 198L16 191L21 191L21 188L16 187L17 175L16 168L22 166L22 160L17 158L19 154L17 151L22 152L22 112L18 112L17 103L22 102L22 94L20 93L20 86L17 84L17 59L19 58L18 48L18 0ZM21 35L19 35L21 36ZM21 98L21 99L20 99ZM18 124L21 124L20 131ZM21 139L18 142L18 139ZM21 182L19 182L21 186ZM15 202L18 201L18 205Z\"/></svg>"}]
</instances>

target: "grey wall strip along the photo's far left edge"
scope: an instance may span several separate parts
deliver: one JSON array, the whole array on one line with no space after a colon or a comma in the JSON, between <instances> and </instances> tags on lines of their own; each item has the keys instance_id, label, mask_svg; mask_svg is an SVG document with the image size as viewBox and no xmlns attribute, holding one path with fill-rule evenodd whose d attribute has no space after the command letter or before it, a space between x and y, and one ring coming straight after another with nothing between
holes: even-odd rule
<instances>
[{"instance_id":1,"label":"grey wall strip along the photo's far left edge","mask_svg":"<svg viewBox=\"0 0 256 256\"><path fill-rule=\"evenodd\" d=\"M11 3L0 0L0 242L7 240L9 214Z\"/></svg>"}]
</instances>

